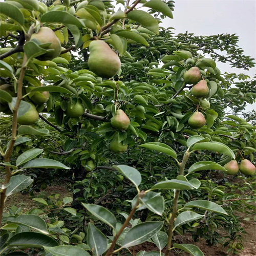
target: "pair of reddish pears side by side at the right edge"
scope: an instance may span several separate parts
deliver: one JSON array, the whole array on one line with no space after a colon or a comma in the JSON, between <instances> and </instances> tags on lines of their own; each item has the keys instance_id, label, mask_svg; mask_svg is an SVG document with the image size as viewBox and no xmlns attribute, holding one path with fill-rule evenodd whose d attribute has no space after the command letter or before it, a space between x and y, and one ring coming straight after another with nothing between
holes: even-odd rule
<instances>
[{"instance_id":1,"label":"pair of reddish pears side by side at the right edge","mask_svg":"<svg viewBox=\"0 0 256 256\"><path fill-rule=\"evenodd\" d=\"M247 159L243 159L239 165L236 160L231 160L223 167L227 170L228 175L236 175L240 170L242 174L252 176L256 169L256 167Z\"/></svg>"}]
</instances>

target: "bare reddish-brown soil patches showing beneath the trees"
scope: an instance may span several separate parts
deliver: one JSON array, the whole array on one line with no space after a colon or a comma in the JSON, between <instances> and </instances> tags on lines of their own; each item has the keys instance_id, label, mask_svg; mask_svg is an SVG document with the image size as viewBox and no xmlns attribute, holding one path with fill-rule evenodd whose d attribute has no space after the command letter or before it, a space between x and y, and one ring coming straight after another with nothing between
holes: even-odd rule
<instances>
[{"instance_id":1,"label":"bare reddish-brown soil patches showing beneath the trees","mask_svg":"<svg viewBox=\"0 0 256 256\"><path fill-rule=\"evenodd\" d=\"M61 200L63 197L71 197L72 193L67 191L65 184L62 186L51 186L47 187L45 190L40 191L40 193L35 193L34 197L46 198L49 195L59 194L58 200ZM17 207L22 207L22 212L26 213L32 208L38 207L38 203L31 200L28 194L15 194L10 196L6 202L6 209L15 205ZM246 218L246 216L245 216ZM256 222L255 221L242 221L241 225L244 227L246 233L243 234L243 244L244 250L241 251L239 256L255 256L256 255ZM219 230L225 236L224 230ZM190 235L176 235L174 237L174 243L179 244L194 244L197 245L203 252L205 256L228 256L231 255L230 253L226 253L227 248L224 248L221 244L216 246L208 246L204 239L200 239L199 242L195 243L191 239ZM136 246L135 252L140 250L150 251L150 250L158 250L157 247L154 246L152 243L144 243L142 245ZM178 252L175 253L172 251L170 254L172 256L187 256L187 253Z\"/></svg>"}]
</instances>

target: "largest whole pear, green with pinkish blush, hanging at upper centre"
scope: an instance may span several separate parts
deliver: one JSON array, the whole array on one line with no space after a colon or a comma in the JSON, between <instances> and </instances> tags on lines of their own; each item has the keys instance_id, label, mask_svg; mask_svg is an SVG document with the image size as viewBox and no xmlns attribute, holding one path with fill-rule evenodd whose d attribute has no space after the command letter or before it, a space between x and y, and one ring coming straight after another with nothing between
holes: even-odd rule
<instances>
[{"instance_id":1,"label":"largest whole pear, green with pinkish blush, hanging at upper centre","mask_svg":"<svg viewBox=\"0 0 256 256\"><path fill-rule=\"evenodd\" d=\"M101 40L94 40L89 46L89 69L100 77L113 77L121 68L121 61L108 44Z\"/></svg>"}]
</instances>

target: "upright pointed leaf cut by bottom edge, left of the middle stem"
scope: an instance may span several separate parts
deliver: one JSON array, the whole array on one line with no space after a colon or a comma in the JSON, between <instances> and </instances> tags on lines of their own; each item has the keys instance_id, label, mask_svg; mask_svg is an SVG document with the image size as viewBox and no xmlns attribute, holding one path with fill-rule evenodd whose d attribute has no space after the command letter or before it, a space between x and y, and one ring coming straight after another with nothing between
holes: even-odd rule
<instances>
[{"instance_id":1,"label":"upright pointed leaf cut by bottom edge, left of the middle stem","mask_svg":"<svg viewBox=\"0 0 256 256\"><path fill-rule=\"evenodd\" d=\"M88 224L87 243L96 256L101 255L108 247L106 237L92 223Z\"/></svg>"}]
</instances>

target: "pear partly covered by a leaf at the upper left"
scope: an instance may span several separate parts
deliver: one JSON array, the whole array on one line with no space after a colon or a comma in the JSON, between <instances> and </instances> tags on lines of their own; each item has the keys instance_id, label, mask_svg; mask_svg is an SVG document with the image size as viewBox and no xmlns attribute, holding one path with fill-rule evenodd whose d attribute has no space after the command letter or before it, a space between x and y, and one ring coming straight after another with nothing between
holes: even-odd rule
<instances>
[{"instance_id":1,"label":"pear partly covered by a leaf at the upper left","mask_svg":"<svg viewBox=\"0 0 256 256\"><path fill-rule=\"evenodd\" d=\"M31 39L37 39L41 44L48 44L51 42L50 46L45 47L45 49L52 49L54 51L42 54L37 56L36 58L39 60L51 60L57 56L59 56L61 52L61 44L59 38L55 35L55 33L48 27L42 27L39 29L37 33L32 34Z\"/></svg>"}]
</instances>

